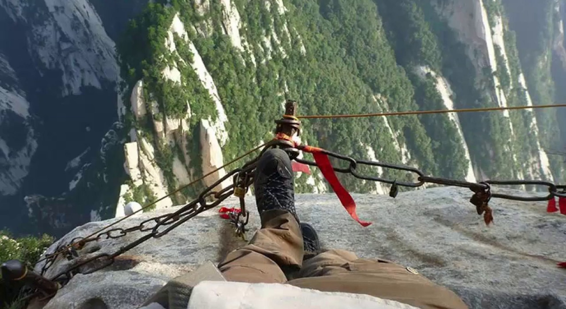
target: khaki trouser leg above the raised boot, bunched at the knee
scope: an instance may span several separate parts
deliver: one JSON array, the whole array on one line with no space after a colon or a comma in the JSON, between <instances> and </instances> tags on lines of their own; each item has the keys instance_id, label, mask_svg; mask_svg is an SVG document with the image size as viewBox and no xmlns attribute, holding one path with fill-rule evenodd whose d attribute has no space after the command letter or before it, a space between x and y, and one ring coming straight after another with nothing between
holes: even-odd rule
<instances>
[{"instance_id":1,"label":"khaki trouser leg above the raised boot, bunched at the knee","mask_svg":"<svg viewBox=\"0 0 566 309\"><path fill-rule=\"evenodd\" d=\"M269 210L261 216L264 226L250 244L228 254L218 269L228 281L285 283L282 269L299 270L303 237L297 220L288 211Z\"/></svg>"}]
</instances>

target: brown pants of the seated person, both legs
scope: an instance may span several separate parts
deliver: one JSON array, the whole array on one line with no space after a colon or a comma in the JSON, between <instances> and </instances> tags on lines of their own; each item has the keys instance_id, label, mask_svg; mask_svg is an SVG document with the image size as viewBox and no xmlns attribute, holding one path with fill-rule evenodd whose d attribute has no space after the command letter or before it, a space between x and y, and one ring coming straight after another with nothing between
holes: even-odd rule
<instances>
[{"instance_id":1,"label":"brown pants of the seated person, both legs","mask_svg":"<svg viewBox=\"0 0 566 309\"><path fill-rule=\"evenodd\" d=\"M358 259L352 252L331 250L303 264L301 228L293 215L270 210L262 219L264 226L250 244L230 252L218 265L226 280L367 294L423 309L468 308L452 291L389 261Z\"/></svg>"}]
</instances>

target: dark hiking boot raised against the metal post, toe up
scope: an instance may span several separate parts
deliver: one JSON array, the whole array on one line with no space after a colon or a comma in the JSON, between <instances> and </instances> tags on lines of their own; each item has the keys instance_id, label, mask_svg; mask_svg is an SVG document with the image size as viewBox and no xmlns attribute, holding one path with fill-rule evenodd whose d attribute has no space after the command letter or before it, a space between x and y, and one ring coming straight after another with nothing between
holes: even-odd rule
<instances>
[{"instance_id":1,"label":"dark hiking boot raised against the metal post, toe up","mask_svg":"<svg viewBox=\"0 0 566 309\"><path fill-rule=\"evenodd\" d=\"M260 216L267 210L284 209L293 214L299 222L295 211L293 176L291 160L285 151L265 151L259 159L254 179L255 202Z\"/></svg>"}]
</instances>

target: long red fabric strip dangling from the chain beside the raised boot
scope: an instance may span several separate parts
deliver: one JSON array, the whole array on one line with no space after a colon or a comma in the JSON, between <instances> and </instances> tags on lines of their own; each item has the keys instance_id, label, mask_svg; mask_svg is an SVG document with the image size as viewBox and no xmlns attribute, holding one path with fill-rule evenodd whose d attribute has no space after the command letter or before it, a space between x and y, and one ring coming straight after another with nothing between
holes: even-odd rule
<instances>
[{"instance_id":1,"label":"long red fabric strip dangling from the chain beside the raised boot","mask_svg":"<svg viewBox=\"0 0 566 309\"><path fill-rule=\"evenodd\" d=\"M328 155L324 154L322 152L322 149L318 147L305 146L303 150L307 153L312 153L315 158L316 165L320 168L322 175L331 185L332 189L336 193L336 196L338 197L338 199L340 199L342 206L344 206L350 216L362 226L371 225L371 222L361 221L359 219L358 214L356 214L355 212L356 205L354 199L351 197L350 193L348 193L348 191L346 191L346 189L342 186L340 180L338 180L338 177L336 177L336 173L332 168L332 163L330 163Z\"/></svg>"}]
</instances>

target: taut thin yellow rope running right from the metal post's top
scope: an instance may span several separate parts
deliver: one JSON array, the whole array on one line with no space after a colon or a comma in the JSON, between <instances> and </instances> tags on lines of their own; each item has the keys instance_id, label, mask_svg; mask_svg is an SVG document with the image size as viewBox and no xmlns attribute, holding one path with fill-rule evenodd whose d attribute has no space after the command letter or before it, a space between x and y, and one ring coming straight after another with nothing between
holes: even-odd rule
<instances>
[{"instance_id":1,"label":"taut thin yellow rope running right from the metal post's top","mask_svg":"<svg viewBox=\"0 0 566 309\"><path fill-rule=\"evenodd\" d=\"M311 116L295 116L295 117L297 117L298 119L359 118L359 117L378 117L378 116L405 116L405 115L425 115L425 114L445 114L445 113L465 113L465 112L509 111L512 109L552 108L552 107L566 107L566 104L463 108L463 109L438 109L436 111L407 111L407 112L387 112L387 113L354 114L354 115L311 115ZM292 116L284 115L284 117L292 117Z\"/></svg>"}]
</instances>

